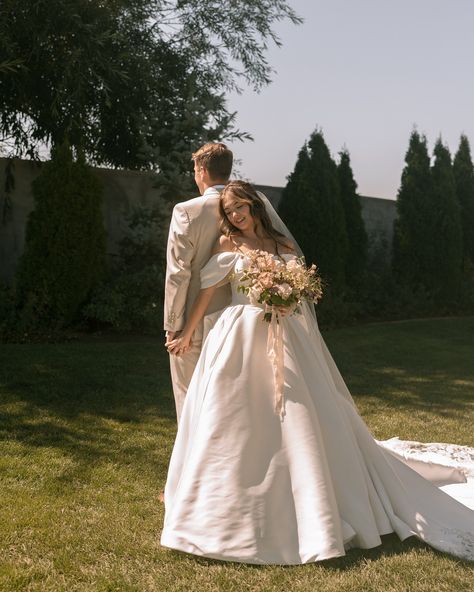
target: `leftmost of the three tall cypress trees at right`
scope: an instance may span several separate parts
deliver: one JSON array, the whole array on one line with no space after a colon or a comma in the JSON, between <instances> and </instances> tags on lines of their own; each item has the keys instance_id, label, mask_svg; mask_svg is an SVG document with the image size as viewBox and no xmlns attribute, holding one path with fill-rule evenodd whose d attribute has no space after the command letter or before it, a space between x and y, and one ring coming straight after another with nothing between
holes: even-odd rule
<instances>
[{"instance_id":1,"label":"leftmost of the three tall cypress trees at right","mask_svg":"<svg viewBox=\"0 0 474 592\"><path fill-rule=\"evenodd\" d=\"M426 137L413 130L405 155L393 236L393 270L403 283L431 286L432 179Z\"/></svg>"}]
</instances>

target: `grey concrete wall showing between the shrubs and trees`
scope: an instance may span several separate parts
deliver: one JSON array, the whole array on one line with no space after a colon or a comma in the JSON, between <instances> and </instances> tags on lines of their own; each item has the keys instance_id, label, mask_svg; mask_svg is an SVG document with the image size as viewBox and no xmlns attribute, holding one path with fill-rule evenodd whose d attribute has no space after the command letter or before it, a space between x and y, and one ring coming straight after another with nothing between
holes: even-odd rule
<instances>
[{"instance_id":1,"label":"grey concrete wall showing between the shrubs and trees","mask_svg":"<svg viewBox=\"0 0 474 592\"><path fill-rule=\"evenodd\" d=\"M14 160L14 190L8 200L4 191L7 160L0 158L0 281L8 282L13 277L18 259L23 252L28 214L33 209L31 183L38 176L41 165ZM159 200L151 173L95 169L104 186L103 211L108 237L109 253L116 252L118 241L124 236L124 216L135 205L151 206ZM277 208L283 189L258 185ZM7 207L10 204L10 207ZM395 218L395 201L361 197L362 216L369 236L379 240L385 237L391 244ZM168 224L168 221L165 222Z\"/></svg>"}]
</instances>

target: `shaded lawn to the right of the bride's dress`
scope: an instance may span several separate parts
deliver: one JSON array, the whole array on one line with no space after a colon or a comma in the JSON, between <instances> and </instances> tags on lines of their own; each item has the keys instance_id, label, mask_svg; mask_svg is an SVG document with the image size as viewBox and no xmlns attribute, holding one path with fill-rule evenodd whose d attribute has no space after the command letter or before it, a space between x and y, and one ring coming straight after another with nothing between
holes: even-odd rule
<instances>
[{"instance_id":1,"label":"shaded lawn to the right of the bride's dress","mask_svg":"<svg viewBox=\"0 0 474 592\"><path fill-rule=\"evenodd\" d=\"M325 335L357 398L458 417L474 401L474 318L387 323Z\"/></svg>"}]
</instances>

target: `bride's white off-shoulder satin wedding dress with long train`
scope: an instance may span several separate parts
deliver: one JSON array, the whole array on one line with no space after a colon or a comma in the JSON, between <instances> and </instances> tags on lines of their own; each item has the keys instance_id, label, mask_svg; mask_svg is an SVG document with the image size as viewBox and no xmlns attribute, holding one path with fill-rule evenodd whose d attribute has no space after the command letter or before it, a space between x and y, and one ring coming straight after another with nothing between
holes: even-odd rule
<instances>
[{"instance_id":1,"label":"bride's white off-shoulder satin wedding dress with long train","mask_svg":"<svg viewBox=\"0 0 474 592\"><path fill-rule=\"evenodd\" d=\"M275 413L269 325L237 292L246 262L219 253L201 272L202 287L230 281L233 299L204 342L186 396L161 544L300 564L375 547L395 532L474 560L474 450L450 455L441 445L424 451L374 440L304 315L281 320L285 414Z\"/></svg>"}]
</instances>

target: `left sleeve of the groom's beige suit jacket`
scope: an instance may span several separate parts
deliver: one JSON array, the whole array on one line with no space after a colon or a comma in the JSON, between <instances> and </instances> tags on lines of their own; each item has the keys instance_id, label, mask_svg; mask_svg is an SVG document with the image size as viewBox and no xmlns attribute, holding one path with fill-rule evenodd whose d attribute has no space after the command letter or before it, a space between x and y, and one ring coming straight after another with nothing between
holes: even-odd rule
<instances>
[{"instance_id":1,"label":"left sleeve of the groom's beige suit jacket","mask_svg":"<svg viewBox=\"0 0 474 592\"><path fill-rule=\"evenodd\" d=\"M194 244L189 216L186 210L177 204L171 217L166 250L165 331L180 331L184 327L193 256Z\"/></svg>"}]
</instances>

